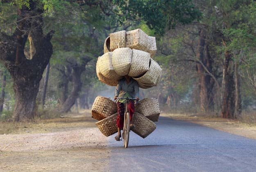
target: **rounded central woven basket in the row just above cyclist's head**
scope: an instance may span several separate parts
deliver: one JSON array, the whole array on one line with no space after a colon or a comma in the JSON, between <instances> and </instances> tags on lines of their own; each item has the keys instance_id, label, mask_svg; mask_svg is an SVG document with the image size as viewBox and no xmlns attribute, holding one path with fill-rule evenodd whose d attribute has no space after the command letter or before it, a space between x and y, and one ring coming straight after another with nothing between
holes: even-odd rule
<instances>
[{"instance_id":1,"label":"rounded central woven basket in the row just above cyclist's head","mask_svg":"<svg viewBox=\"0 0 256 172\"><path fill-rule=\"evenodd\" d=\"M118 48L113 51L112 64L118 75L125 76L129 74L131 59L132 50L130 48Z\"/></svg>"}]
</instances>

